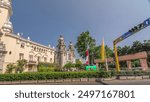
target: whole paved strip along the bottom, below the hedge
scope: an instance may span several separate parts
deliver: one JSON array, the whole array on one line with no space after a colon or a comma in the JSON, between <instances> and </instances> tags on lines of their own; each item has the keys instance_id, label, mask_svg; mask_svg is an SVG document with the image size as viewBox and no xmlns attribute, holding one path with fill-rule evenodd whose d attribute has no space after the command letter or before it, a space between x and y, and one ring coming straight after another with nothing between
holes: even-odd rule
<instances>
[{"instance_id":1,"label":"whole paved strip along the bottom, below the hedge","mask_svg":"<svg viewBox=\"0 0 150 102\"><path fill-rule=\"evenodd\" d=\"M98 81L98 82L10 83L6 85L150 85L150 79L147 79L147 80L146 79L145 80L108 80L108 81Z\"/></svg>"}]
</instances>

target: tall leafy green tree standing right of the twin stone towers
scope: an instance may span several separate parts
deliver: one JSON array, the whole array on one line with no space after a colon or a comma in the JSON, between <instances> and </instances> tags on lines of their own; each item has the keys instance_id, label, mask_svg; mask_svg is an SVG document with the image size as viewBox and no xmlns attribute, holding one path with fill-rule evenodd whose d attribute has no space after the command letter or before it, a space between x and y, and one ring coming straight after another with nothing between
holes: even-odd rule
<instances>
[{"instance_id":1,"label":"tall leafy green tree standing right of the twin stone towers","mask_svg":"<svg viewBox=\"0 0 150 102\"><path fill-rule=\"evenodd\" d=\"M77 48L79 55L82 58L85 58L86 57L85 51L88 49L88 47L89 47L90 56L91 56L93 54L95 45L96 45L95 39L93 39L90 36L90 33L86 31L86 32L82 32L80 36L78 36L75 48Z\"/></svg>"}]
</instances>

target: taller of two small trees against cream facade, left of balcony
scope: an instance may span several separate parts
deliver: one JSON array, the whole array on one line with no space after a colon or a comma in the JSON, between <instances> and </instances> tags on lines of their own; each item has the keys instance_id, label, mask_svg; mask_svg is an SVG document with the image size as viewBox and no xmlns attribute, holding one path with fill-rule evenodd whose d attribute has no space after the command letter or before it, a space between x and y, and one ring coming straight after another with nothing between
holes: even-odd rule
<instances>
[{"instance_id":1,"label":"taller of two small trees against cream facade, left of balcony","mask_svg":"<svg viewBox=\"0 0 150 102\"><path fill-rule=\"evenodd\" d=\"M24 70L24 66L27 64L27 61L25 59L18 60L17 61L17 67L16 67L16 72L22 73Z\"/></svg>"}]
</instances>

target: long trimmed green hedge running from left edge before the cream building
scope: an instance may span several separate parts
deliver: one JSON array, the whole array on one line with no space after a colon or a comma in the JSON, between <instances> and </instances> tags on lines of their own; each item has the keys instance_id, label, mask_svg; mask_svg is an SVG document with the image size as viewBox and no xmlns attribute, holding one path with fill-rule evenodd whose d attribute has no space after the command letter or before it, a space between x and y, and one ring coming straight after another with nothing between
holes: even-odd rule
<instances>
[{"instance_id":1,"label":"long trimmed green hedge running from left edge before the cream building","mask_svg":"<svg viewBox=\"0 0 150 102\"><path fill-rule=\"evenodd\" d=\"M19 81L19 80L49 80L67 78L107 78L111 77L111 72L37 72L22 74L0 74L0 81Z\"/></svg>"}]
</instances>

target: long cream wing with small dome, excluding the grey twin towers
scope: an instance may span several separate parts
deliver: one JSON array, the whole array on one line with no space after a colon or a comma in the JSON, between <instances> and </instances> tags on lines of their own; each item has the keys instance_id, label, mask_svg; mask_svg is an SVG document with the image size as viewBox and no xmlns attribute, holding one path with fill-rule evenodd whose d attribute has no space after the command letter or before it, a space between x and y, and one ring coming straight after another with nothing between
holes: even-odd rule
<instances>
[{"instance_id":1,"label":"long cream wing with small dome, excluding the grey twin towers","mask_svg":"<svg viewBox=\"0 0 150 102\"><path fill-rule=\"evenodd\" d=\"M28 37L24 39L20 34L14 34L12 24L6 22L1 29L1 72L6 71L10 63L16 63L17 60L27 60L25 71L37 71L39 62L54 63L55 49L50 46L44 46L33 42Z\"/></svg>"}]
</instances>

